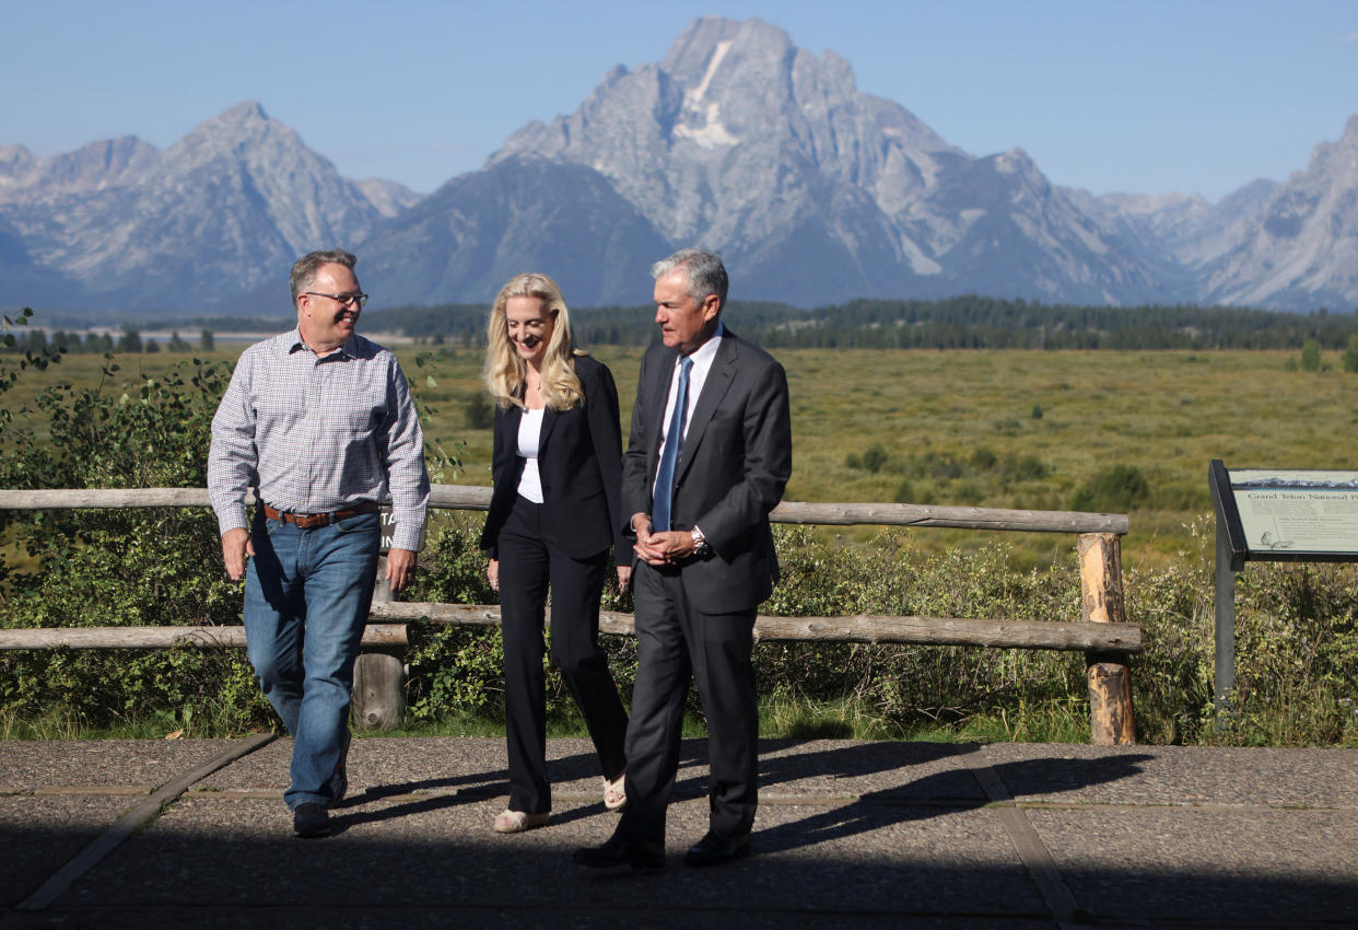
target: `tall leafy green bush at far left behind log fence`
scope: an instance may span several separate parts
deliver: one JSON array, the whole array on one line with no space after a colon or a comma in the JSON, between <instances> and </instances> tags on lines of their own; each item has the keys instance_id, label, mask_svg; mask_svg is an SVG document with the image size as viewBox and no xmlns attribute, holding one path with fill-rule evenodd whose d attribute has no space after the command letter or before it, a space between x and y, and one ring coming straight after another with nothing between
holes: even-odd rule
<instances>
[{"instance_id":1,"label":"tall leafy green bush at far left behind log fence","mask_svg":"<svg viewBox=\"0 0 1358 930\"><path fill-rule=\"evenodd\" d=\"M221 364L179 363L162 379L42 392L0 453L7 488L204 487L212 415L230 375ZM14 424L11 424L14 426ZM221 571L217 523L206 507L61 509L7 514L7 538L26 556L0 586L4 627L234 624L240 585ZM5 653L0 710L61 708L91 725L174 712L198 730L272 722L240 650Z\"/></svg>"}]
</instances>

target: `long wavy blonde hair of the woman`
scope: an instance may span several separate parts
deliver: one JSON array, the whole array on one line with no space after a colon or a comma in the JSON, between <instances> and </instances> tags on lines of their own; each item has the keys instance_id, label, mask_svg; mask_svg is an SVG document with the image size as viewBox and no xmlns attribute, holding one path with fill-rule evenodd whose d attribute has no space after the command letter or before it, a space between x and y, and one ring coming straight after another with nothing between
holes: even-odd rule
<instances>
[{"instance_id":1,"label":"long wavy blonde hair of the woman","mask_svg":"<svg viewBox=\"0 0 1358 930\"><path fill-rule=\"evenodd\" d=\"M528 366L513 349L509 341L509 326L505 305L513 296L532 296L542 300L543 310L551 317L551 337L547 352L542 358L542 398L554 411L569 411L585 402L580 378L576 375L574 356L588 355L574 347L570 336L570 311L561 296L561 288L546 275L515 275L500 288L490 307L490 321L486 324L486 370L485 381L496 404L508 409L511 404L521 404Z\"/></svg>"}]
</instances>

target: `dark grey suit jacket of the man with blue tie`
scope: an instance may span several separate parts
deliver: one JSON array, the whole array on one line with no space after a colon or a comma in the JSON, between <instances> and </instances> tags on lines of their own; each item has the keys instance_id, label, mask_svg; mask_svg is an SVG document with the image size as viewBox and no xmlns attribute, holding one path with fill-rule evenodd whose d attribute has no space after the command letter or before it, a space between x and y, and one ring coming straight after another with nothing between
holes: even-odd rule
<instances>
[{"instance_id":1,"label":"dark grey suit jacket of the man with blue tie","mask_svg":"<svg viewBox=\"0 0 1358 930\"><path fill-rule=\"evenodd\" d=\"M676 358L675 349L652 345L641 360L622 465L623 519L650 513ZM750 610L773 591L778 560L769 511L790 476L788 378L777 359L727 329L675 465L671 523L701 526L713 549L682 568L684 591L703 613Z\"/></svg>"}]
</instances>

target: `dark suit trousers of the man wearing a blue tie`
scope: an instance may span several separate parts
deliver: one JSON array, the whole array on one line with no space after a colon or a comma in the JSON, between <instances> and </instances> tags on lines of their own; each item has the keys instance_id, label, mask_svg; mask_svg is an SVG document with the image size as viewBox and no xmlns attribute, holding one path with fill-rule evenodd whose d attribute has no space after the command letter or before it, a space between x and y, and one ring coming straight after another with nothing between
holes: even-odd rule
<instances>
[{"instance_id":1,"label":"dark suit trousers of the man wearing a blue tie","mask_svg":"<svg viewBox=\"0 0 1358 930\"><path fill-rule=\"evenodd\" d=\"M708 715L710 828L747 833L759 804L755 610L697 610L684 597L682 571L638 563L631 575L637 684L627 726L627 806L618 829L633 840L664 843L690 677Z\"/></svg>"}]
</instances>

